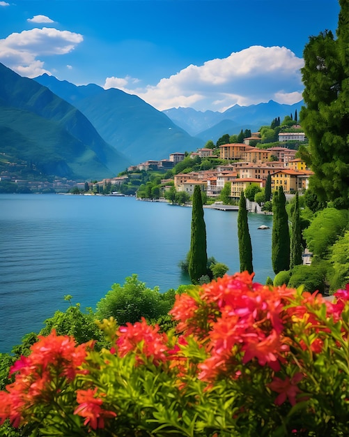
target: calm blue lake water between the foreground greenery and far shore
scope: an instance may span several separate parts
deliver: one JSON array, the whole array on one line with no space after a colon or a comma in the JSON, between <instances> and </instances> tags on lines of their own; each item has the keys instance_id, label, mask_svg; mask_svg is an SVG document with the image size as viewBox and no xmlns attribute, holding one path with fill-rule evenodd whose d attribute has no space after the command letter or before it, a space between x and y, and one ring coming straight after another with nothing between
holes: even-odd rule
<instances>
[{"instance_id":1,"label":"calm blue lake water between the foreground greenery and far shore","mask_svg":"<svg viewBox=\"0 0 349 437\"><path fill-rule=\"evenodd\" d=\"M237 212L205 209L208 256L240 269ZM160 291L189 283L178 262L189 250L192 209L134 198L0 195L0 352L38 332L64 295L82 309L113 283L138 274ZM249 214L256 281L273 276L272 217Z\"/></svg>"}]
</instances>

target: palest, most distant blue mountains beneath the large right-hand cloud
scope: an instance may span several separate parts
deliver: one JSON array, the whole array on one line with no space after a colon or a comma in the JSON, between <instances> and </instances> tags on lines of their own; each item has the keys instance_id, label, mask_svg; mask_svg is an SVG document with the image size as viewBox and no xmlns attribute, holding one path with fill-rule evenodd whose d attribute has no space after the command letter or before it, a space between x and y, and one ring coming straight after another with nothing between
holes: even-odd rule
<instances>
[{"instance_id":1,"label":"palest, most distant blue mountains beneath the large right-hand cloud","mask_svg":"<svg viewBox=\"0 0 349 437\"><path fill-rule=\"evenodd\" d=\"M225 133L238 134L241 129L258 131L261 126L270 125L275 117L280 117L282 121L286 115L295 114L295 110L299 114L303 104L303 101L294 105L269 101L258 105L234 105L224 112L201 112L192 108L171 108L163 112L191 135L217 142Z\"/></svg>"}]
</instances>

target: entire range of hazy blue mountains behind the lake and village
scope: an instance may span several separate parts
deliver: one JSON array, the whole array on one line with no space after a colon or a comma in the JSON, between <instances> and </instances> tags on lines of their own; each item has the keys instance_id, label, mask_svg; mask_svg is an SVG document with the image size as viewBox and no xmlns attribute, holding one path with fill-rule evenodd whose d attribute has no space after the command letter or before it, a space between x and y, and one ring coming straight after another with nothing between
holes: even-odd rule
<instances>
[{"instance_id":1,"label":"entire range of hazy blue mountains behind the lake and village","mask_svg":"<svg viewBox=\"0 0 349 437\"><path fill-rule=\"evenodd\" d=\"M103 179L131 164L195 151L226 133L257 131L301 106L270 101L223 113L160 112L119 89L76 86L49 75L32 80L0 64L0 152L3 160L32 163L46 175Z\"/></svg>"}]
</instances>

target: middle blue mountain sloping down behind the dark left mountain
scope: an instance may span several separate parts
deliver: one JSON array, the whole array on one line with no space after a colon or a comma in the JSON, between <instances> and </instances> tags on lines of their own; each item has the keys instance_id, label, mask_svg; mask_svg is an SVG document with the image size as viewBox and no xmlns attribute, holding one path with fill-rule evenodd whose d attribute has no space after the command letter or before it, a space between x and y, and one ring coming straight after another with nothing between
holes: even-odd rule
<instances>
[{"instance_id":1,"label":"middle blue mountain sloping down behind the dark left mountain","mask_svg":"<svg viewBox=\"0 0 349 437\"><path fill-rule=\"evenodd\" d=\"M78 108L102 138L134 164L204 145L203 140L190 136L166 114L120 89L103 89L95 84L76 86L46 74L35 80Z\"/></svg>"}]
</instances>

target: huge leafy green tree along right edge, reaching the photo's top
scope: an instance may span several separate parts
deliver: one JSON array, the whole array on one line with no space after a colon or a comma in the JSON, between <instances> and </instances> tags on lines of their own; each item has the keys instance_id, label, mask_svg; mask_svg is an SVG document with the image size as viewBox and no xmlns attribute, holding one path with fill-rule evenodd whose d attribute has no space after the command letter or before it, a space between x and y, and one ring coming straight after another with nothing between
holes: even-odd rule
<instances>
[{"instance_id":1,"label":"huge leafy green tree along right edge, reaching the photo's top","mask_svg":"<svg viewBox=\"0 0 349 437\"><path fill-rule=\"evenodd\" d=\"M311 190L349 207L349 2L339 4L337 39L325 31L304 47L300 121L309 139Z\"/></svg>"}]
</instances>

